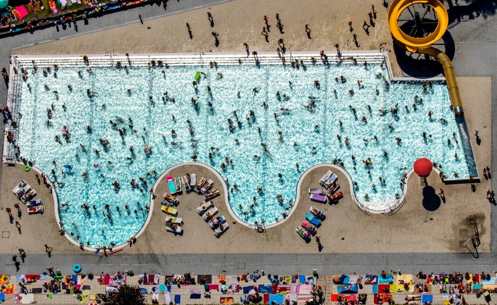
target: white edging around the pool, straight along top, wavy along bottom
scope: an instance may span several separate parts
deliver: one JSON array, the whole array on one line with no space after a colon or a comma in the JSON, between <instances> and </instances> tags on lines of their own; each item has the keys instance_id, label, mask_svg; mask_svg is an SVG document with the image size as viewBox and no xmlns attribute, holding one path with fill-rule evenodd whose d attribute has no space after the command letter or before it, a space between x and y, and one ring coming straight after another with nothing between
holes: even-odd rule
<instances>
[{"instance_id":1,"label":"white edging around the pool, straight along top, wavy along bottom","mask_svg":"<svg viewBox=\"0 0 497 305\"><path fill-rule=\"evenodd\" d=\"M350 59L347 59L348 57L358 58L359 60L367 59L368 57L375 57L374 58L375 61L373 61L373 63L379 63L381 61L385 62L386 69L388 72L388 77L391 81L424 81L426 79L445 80L444 77L432 77L432 78L425 78L425 79L424 78L423 79L413 78L413 77L393 77L392 69L390 66L390 61L388 58L388 52L389 52L389 50L385 49L384 51L345 51L345 52L341 52L340 54L338 54L336 51L329 50L329 51L325 51L325 54L327 54L327 56L329 57L330 65L337 64L336 63L337 60L342 60L343 61L342 64L352 64L352 61ZM208 66L209 61L216 61L216 60L221 61L220 65L239 65L238 59L242 59L242 61L243 61L242 65L250 65L250 66L253 66L254 64L281 65L281 63L282 63L281 58L277 54L275 54L274 52L258 52L257 53L257 60L255 60L251 54L247 55L247 52L131 54L131 55L129 55L129 57L126 56L125 54L88 54L86 56L88 57L90 67L95 66L95 65L96 66L101 65L101 66L105 66L105 67L112 67L112 66L116 65L117 61L121 61L123 64L123 67L124 67L128 64L128 60L134 66L145 66L145 67L149 66L149 63L152 60L155 60L156 63L158 61L162 60L164 62L164 64L167 64L168 66L185 66L185 65ZM319 52L317 52L317 53L287 52L283 56L286 59L285 64L288 66L290 66L291 61L297 60L297 59L299 61L305 62L307 65L312 65L311 57L314 57L317 60L318 64L322 64L322 60L320 58ZM364 58L361 59L361 57L364 57ZM85 65L83 64L82 59L83 59L83 55L53 55L53 56L17 55L17 56L12 56L11 57L11 64L9 66L9 73L10 73L9 74L9 81L10 81L10 84L13 84L13 81L14 81L13 68L14 68L14 66L19 67L19 69L18 69L19 73L20 73L20 67L32 66L33 64L31 61L35 61L35 62L38 61L39 64L49 64L49 63L52 63L52 61L53 61L53 63L57 63L60 67L64 67L64 61L66 63L69 63L70 61L72 61L73 64L77 63L79 66L84 67ZM60 61L63 61L63 62L60 62ZM133 61L135 61L135 63ZM142 62L137 62L137 61L142 61ZM173 61L173 62L171 62L171 61ZM40 62L42 62L42 63L40 63ZM157 67L157 68L160 68L160 67ZM10 85L8 88L8 92L7 92L8 93L7 94L7 105L9 106L10 109L13 109L13 107L11 106L11 98L12 98L12 94L14 93L13 87L14 87L13 85ZM15 115L13 115L13 117L15 118ZM8 124L5 124L5 131L7 131L8 128L9 128ZM9 143L6 139L6 132L5 132L4 138L5 139L4 139L4 146L3 146L3 158L5 158L7 156L8 145L9 145ZM473 150L472 143L471 143L471 149ZM226 204L228 205L228 210L230 211L230 214L239 223L241 223L249 228L255 228L254 225L250 225L250 224L246 223L245 221L241 220L233 212L233 210L229 204L228 188L224 182L224 179L222 178L222 176L219 174L219 172L216 169L214 169L213 167L211 167L205 163L181 162L181 163L177 163L175 165L172 165L171 167L167 168L161 174L161 176L156 180L156 182L154 184L154 189L156 189L158 183L164 178L164 175L166 174L167 171L174 169L178 166L185 165L185 164L196 164L196 165L200 165L200 166L206 167L208 169L211 169L211 171L219 178L219 180L222 181L221 183L223 184L223 188L225 190L225 200L226 200ZM276 223L273 223L273 224L270 224L267 226L264 225L264 227L266 229L275 227L275 226L283 223L284 221L286 221L286 219L288 219L292 215L292 213L295 211L295 208L298 204L298 198L300 197L300 185L302 183L303 178L308 174L308 172L310 170L317 168L317 167L321 167L321 166L330 166L330 167L342 170L342 172L345 173L345 175L347 176L347 179L349 180L349 185L350 185L351 194L352 194L352 200L356 203L356 205L359 207L359 209L361 209L363 211L366 211L369 213L374 213L374 214L383 214L383 213L387 213L387 212L393 212L396 208L401 206L405 200L407 184L405 184L405 187L403 189L403 193L402 193L400 199L397 200L394 205L389 205L387 209L371 209L368 207L367 203L363 203L361 200L358 200L357 197L355 196L354 187L353 187L353 180L344 168L333 165L332 163L318 163L318 164L315 164L315 165L309 167L308 169L306 169L302 173L301 177L299 178L299 181L298 181L297 186L296 186L297 187L297 192L296 192L297 195L296 195L292 209L288 212L288 216L286 218L276 222ZM33 168L35 168L35 170L38 171L39 173L42 173L42 171L39 168L37 168L35 166L33 166ZM411 175L412 172L413 172L413 170L411 169L408 172L408 177ZM450 181L452 181L452 180L450 180ZM59 223L60 218L58 215L59 210L58 210L57 194L56 194L55 189L53 187L52 187L52 190L53 190L54 202L56 205L55 210L57 211L56 212L56 219L57 219L57 223ZM150 199L150 209L149 209L149 213L147 216L147 220L145 221L142 228L135 235L135 237L138 237L140 234L142 234L143 231L145 230L145 228L147 227L148 223L150 222L152 212L153 212L153 203L154 203L154 200L152 199L152 195L150 195L150 198L151 198ZM78 246L80 245L67 233L65 235L72 243L74 243ZM113 247L113 250L118 250L120 248L123 248L126 245L127 245L127 243L116 245L115 247ZM90 251L96 250L96 248L94 248L94 247L83 246L83 248L85 250L90 250Z\"/></svg>"}]
</instances>

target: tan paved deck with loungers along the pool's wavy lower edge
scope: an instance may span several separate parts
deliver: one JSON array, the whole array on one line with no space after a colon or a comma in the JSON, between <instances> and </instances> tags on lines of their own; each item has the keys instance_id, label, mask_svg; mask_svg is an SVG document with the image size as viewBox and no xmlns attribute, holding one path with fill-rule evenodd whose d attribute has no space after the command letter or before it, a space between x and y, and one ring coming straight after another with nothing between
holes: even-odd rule
<instances>
[{"instance_id":1,"label":"tan paved deck with loungers along the pool's wavy lower edge","mask_svg":"<svg viewBox=\"0 0 497 305\"><path fill-rule=\"evenodd\" d=\"M458 81L463 100L473 100L472 107L465 107L469 130L480 129L482 139L488 139L491 134L490 78L463 77ZM483 141L480 145L474 144L474 151L480 168L486 166L490 158L490 143ZM484 178L481 183L476 184L476 191L473 192L469 184L444 185L433 172L428 178L428 185L437 192L443 188L446 203L443 203L438 196L425 199L423 203L420 179L412 175L408 180L406 203L397 213L392 216L388 214L367 216L353 202L349 182L341 169L332 168L338 175L338 181L342 186L340 191L343 192L344 198L336 205L310 201L307 189L319 187L318 181L327 170L325 166L307 172L301 182L300 198L293 214L275 228L258 233L255 229L232 223L234 218L229 213L224 199L225 190L221 187L222 182L213 172L196 164L178 166L166 172L166 175L181 176L186 173L196 173L197 179L205 176L214 181L214 187L219 188L221 196L213 202L219 209L219 216L224 215L227 218L230 229L219 239L216 238L208 224L196 212L203 198L192 193L178 197L180 202L177 207L178 217L184 222L183 235L175 236L166 232L164 226L166 214L161 211L160 199L166 192L167 186L165 179L162 179L156 189L158 198L154 202L148 226L138 237L138 242L132 247L124 247L124 252L163 253L167 249L168 253L246 253L247 249L257 249L258 253L303 251L318 253L314 239L306 244L295 232L311 205L327 214L327 219L318 229L318 236L321 236L324 245L323 253L466 252L467 249L462 244L473 234L468 223L472 215L477 217L482 240L479 251L490 251L488 215L491 205L482 199L485 198L490 186L489 181ZM13 224L9 224L8 221L3 222L0 229L8 232L9 238L4 239L0 253L14 253L19 247L24 248L28 253L43 253L45 243L54 247L52 253L81 252L77 246L59 235L52 195L43 184L37 184L34 171L26 173L22 166L3 167L2 175L2 196L5 198L3 208L10 207L14 211L14 222L19 221L22 234L18 235ZM11 189L21 179L36 189L39 194L36 198L42 198L46 207L44 215L26 215L25 207L21 204L22 216L20 219L16 217L13 204L17 199ZM6 213L4 217L7 220ZM18 238L21 236L22 238ZM169 246L165 248L165 245Z\"/></svg>"}]
</instances>

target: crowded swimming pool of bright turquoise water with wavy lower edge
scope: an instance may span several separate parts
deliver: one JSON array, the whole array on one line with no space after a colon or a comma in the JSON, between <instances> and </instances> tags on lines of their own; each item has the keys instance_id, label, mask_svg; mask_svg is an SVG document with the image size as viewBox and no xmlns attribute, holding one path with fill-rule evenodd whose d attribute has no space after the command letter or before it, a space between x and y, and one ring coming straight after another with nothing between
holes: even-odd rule
<instances>
[{"instance_id":1,"label":"crowded swimming pool of bright turquoise water with wavy lower edge","mask_svg":"<svg viewBox=\"0 0 497 305\"><path fill-rule=\"evenodd\" d=\"M444 83L434 82L425 93L421 82L396 82L386 87L382 77L388 79L387 71L378 60L368 61L365 68L362 62L327 66L311 64L309 56L301 58L305 69L292 68L288 63L265 65L263 60L258 66L253 60L233 65L236 59L230 65L210 68L208 58L167 68L158 66L158 62L148 67L149 60L134 62L132 58L131 68L117 69L115 57L113 64L107 60L98 65L90 57L91 73L86 72L89 66L79 58L52 58L59 66L56 77L53 66L45 76L43 67L47 65L41 63L33 74L31 61L23 59L28 79L22 81L18 76L13 80L19 91L18 111L22 113L17 144L21 155L54 181L60 218L67 231L92 246L119 244L138 232L149 213L148 190L158 177L147 173L155 170L160 174L173 164L192 160L193 154L197 156L195 161L218 170L231 189L236 183L229 203L233 212L249 224L265 221L269 225L281 219L281 213L293 205L300 175L321 162L343 162L357 183L357 199L372 209L388 207L396 194L402 194L402 175L418 157L442 164L449 178L454 171L460 178L475 171L471 147L468 150L461 141ZM123 66L128 65L127 59L121 61ZM205 76L200 76L195 88L192 81L197 71ZM335 81L340 76L346 81ZM360 87L357 79L362 79ZM319 80L318 86L315 80ZM415 103L415 95L422 98L422 103ZM198 106L193 106L192 98ZM312 109L304 107L311 101L315 102ZM393 115L390 109L396 103L398 113ZM52 111L50 125L45 123L47 109ZM379 109L385 109L385 115ZM433 111L432 118L428 111ZM361 121L363 116L365 120ZM440 118L446 121L440 122ZM87 125L91 125L91 133ZM61 131L64 126L69 127L68 141ZM121 136L118 129L123 127L126 133ZM55 141L56 136L60 143ZM99 139L109 141L108 149ZM152 147L152 153L144 153L145 145ZM131 146L134 153L129 150ZM225 157L233 159L232 163ZM372 164L363 164L362 160L368 158ZM65 164L72 168L65 168ZM50 173L52 169L55 176ZM144 177L143 182L139 176ZM380 183L379 177L385 183ZM136 179L136 187L130 184L131 179ZM120 183L120 189L114 189L113 181ZM345 181L341 183L346 187ZM257 186L262 187L262 194ZM369 199L364 198L366 193ZM283 203L278 202L277 194L282 195ZM83 209L83 204L90 208ZM106 204L109 212L104 210Z\"/></svg>"}]
</instances>

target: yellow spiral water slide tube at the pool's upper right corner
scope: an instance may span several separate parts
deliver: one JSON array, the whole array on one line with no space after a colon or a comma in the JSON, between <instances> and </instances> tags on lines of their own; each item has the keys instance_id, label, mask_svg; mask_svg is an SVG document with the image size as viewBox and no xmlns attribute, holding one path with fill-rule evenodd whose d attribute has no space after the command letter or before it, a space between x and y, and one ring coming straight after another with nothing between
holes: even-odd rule
<instances>
[{"instance_id":1,"label":"yellow spiral water slide tube at the pool's upper right corner","mask_svg":"<svg viewBox=\"0 0 497 305\"><path fill-rule=\"evenodd\" d=\"M409 6L416 3L431 6L438 16L438 24L435 30L426 37L411 37L402 31L398 23L401 13ZM454 107L454 113L456 116L462 116L463 108L461 96L459 95L459 89L457 87L454 66L445 53L431 46L432 43L436 42L443 36L449 24L449 15L447 14L447 10L445 9L443 3L439 0L393 0L388 9L387 20L392 36L402 47L410 52L432 56L438 60L440 64L442 64L445 79L447 80L450 100L452 101L452 106Z\"/></svg>"}]
</instances>

